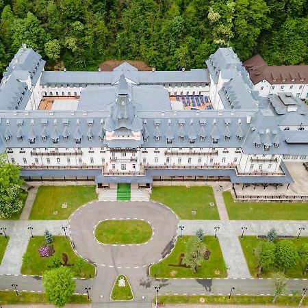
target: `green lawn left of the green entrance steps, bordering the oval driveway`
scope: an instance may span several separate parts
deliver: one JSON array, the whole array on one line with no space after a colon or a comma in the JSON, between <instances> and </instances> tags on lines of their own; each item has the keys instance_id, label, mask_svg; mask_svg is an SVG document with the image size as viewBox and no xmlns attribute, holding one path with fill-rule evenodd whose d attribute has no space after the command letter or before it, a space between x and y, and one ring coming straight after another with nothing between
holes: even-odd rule
<instances>
[{"instance_id":1,"label":"green lawn left of the green entrance steps, bordering the oval driveway","mask_svg":"<svg viewBox=\"0 0 308 308\"><path fill-rule=\"evenodd\" d=\"M40 186L29 219L67 219L75 209L94 199L95 186ZM65 202L67 208L62 209Z\"/></svg>"}]
</instances>

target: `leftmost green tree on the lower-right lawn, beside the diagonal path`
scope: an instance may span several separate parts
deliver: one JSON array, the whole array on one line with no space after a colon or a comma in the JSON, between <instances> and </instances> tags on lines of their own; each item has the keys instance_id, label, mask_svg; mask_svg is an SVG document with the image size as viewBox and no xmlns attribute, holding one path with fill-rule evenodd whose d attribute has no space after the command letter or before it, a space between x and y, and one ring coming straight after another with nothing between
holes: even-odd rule
<instances>
[{"instance_id":1,"label":"leftmost green tree on the lower-right lawn, beside the diagonal path","mask_svg":"<svg viewBox=\"0 0 308 308\"><path fill-rule=\"evenodd\" d=\"M260 242L254 249L253 254L258 260L259 272L257 276L262 274L264 268L269 268L275 261L275 245L273 242Z\"/></svg>"}]
</instances>

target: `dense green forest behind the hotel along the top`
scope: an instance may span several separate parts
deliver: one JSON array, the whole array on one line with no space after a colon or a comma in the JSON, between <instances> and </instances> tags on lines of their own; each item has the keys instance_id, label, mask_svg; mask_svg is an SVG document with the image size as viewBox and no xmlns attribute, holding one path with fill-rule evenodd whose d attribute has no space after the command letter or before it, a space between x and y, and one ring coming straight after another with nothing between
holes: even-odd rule
<instances>
[{"instance_id":1,"label":"dense green forest behind the hotel along the top","mask_svg":"<svg viewBox=\"0 0 308 308\"><path fill-rule=\"evenodd\" d=\"M307 12L308 0L0 0L0 73L22 43L50 70L107 59L202 68L226 46L242 61L307 64Z\"/></svg>"}]
</instances>

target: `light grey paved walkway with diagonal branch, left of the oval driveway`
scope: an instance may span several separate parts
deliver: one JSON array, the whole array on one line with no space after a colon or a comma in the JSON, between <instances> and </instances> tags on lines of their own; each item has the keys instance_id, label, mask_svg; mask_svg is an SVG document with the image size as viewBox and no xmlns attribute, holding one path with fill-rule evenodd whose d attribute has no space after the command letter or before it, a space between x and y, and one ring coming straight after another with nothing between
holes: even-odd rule
<instances>
[{"instance_id":1,"label":"light grey paved walkway with diagonal branch, left of the oval driveway","mask_svg":"<svg viewBox=\"0 0 308 308\"><path fill-rule=\"evenodd\" d=\"M62 226L67 225L66 220L1 220L10 241L0 264L0 274L21 273L23 255L31 238L28 227L33 227L34 235L42 235L46 229L53 235L63 235Z\"/></svg>"}]
</instances>

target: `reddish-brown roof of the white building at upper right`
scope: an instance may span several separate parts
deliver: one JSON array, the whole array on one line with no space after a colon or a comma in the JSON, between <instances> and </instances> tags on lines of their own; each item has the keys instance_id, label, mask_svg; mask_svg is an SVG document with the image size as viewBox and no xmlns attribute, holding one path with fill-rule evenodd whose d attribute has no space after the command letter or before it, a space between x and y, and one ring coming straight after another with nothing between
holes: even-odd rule
<instances>
[{"instance_id":1,"label":"reddish-brown roof of the white building at upper right","mask_svg":"<svg viewBox=\"0 0 308 308\"><path fill-rule=\"evenodd\" d=\"M268 65L261 55L254 55L243 65L253 84L267 80L270 84L307 84L308 65Z\"/></svg>"}]
</instances>

